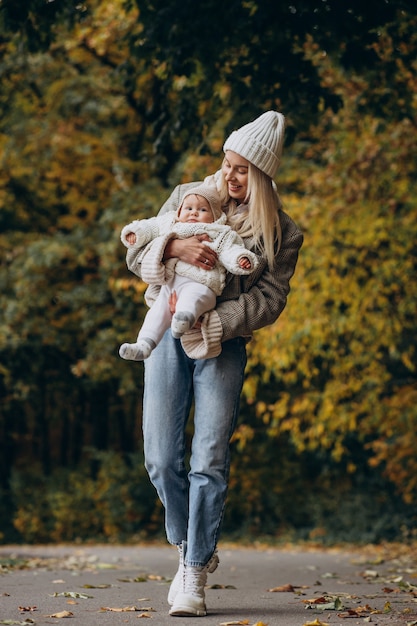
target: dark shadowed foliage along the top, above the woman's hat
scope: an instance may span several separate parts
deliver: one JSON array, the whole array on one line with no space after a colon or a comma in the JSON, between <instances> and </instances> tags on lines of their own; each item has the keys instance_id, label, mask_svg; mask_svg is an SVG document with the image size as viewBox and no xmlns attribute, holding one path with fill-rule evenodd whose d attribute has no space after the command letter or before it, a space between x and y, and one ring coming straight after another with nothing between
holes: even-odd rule
<instances>
[{"instance_id":1,"label":"dark shadowed foliage along the top, above the woman's hat","mask_svg":"<svg viewBox=\"0 0 417 626\"><path fill-rule=\"evenodd\" d=\"M228 132L246 123L249 111L254 117L267 108L287 116L289 136L294 129L307 129L318 119L323 103L338 109L342 100L320 81L311 59L299 49L306 36L313 36L348 70L369 70L377 60L373 45L379 28L402 13L415 12L410 1L378 0L366 4L206 0L198 6L192 0L136 0L135 4L143 30L131 40L132 53L153 59L155 87L162 98L151 119L163 152L175 150L178 131L193 143L196 130L198 138L204 137L220 116ZM383 67L378 71L380 77Z\"/></svg>"}]
</instances>

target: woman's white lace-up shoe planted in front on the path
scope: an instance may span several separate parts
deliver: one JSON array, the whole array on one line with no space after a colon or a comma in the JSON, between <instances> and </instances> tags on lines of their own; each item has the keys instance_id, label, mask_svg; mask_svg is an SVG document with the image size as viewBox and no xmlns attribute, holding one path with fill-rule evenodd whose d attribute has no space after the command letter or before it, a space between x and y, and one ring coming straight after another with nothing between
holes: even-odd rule
<instances>
[{"instance_id":1,"label":"woman's white lace-up shoe planted in front on the path","mask_svg":"<svg viewBox=\"0 0 417 626\"><path fill-rule=\"evenodd\" d=\"M204 617L207 615L204 587L207 582L207 573L212 573L219 564L217 552L204 567L183 566L182 580L175 595L170 615L187 617L194 615Z\"/></svg>"}]
</instances>

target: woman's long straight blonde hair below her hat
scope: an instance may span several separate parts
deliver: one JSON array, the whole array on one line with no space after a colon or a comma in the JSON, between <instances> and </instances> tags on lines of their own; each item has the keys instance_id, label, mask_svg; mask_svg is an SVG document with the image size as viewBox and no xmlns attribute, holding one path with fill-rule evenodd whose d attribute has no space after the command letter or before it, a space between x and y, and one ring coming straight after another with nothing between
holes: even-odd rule
<instances>
[{"instance_id":1,"label":"woman's long straight blonde hair below her hat","mask_svg":"<svg viewBox=\"0 0 417 626\"><path fill-rule=\"evenodd\" d=\"M275 257L281 247L281 224L279 209L281 200L273 186L272 179L252 163L248 168L248 195L245 203L247 211L236 211L236 202L230 198L227 182L221 170L220 196L222 205L226 207L228 224L241 237L253 237L256 247L260 250L272 269Z\"/></svg>"}]
</instances>

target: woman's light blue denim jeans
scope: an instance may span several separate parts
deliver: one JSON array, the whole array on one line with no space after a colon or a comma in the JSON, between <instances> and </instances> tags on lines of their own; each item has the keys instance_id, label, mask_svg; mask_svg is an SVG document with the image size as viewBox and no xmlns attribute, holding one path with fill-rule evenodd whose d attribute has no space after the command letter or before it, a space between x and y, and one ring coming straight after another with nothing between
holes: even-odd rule
<instances>
[{"instance_id":1,"label":"woman's light blue denim jeans","mask_svg":"<svg viewBox=\"0 0 417 626\"><path fill-rule=\"evenodd\" d=\"M213 359L190 359L168 330L145 361L145 466L165 509L167 539L187 542L185 562L205 565L219 534L229 478L229 441L239 410L246 344L222 344ZM194 398L187 468L185 429Z\"/></svg>"}]
</instances>

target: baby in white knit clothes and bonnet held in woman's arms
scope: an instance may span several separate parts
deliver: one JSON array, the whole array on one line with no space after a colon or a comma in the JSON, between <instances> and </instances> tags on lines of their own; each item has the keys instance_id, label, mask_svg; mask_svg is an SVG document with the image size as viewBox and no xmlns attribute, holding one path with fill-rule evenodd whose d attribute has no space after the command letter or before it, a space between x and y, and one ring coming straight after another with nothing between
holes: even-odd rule
<instances>
[{"instance_id":1,"label":"baby in white knit clothes and bonnet held in woman's arms","mask_svg":"<svg viewBox=\"0 0 417 626\"><path fill-rule=\"evenodd\" d=\"M123 228L121 240L127 248L134 247L128 254L131 259L132 253L137 251L139 262L144 246L171 234L181 239L206 234L209 241L205 244L216 252L217 261L214 267L204 269L177 258L166 261L166 282L160 285L136 342L120 347L123 359L147 359L169 327L174 338L179 339L205 312L215 308L216 297L225 285L226 271L250 274L258 265L257 256L247 250L242 238L226 225L226 215L213 185L203 183L187 190L177 211L133 221ZM170 301L174 292L176 302L172 315Z\"/></svg>"}]
</instances>

